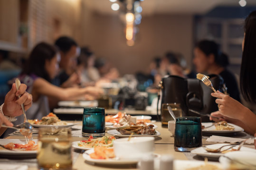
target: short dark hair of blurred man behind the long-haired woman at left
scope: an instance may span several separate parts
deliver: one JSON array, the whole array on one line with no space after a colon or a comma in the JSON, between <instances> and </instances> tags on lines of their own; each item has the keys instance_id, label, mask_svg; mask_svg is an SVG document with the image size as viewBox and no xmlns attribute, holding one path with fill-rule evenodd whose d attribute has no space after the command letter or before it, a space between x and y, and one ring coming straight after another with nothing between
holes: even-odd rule
<instances>
[{"instance_id":1,"label":"short dark hair of blurred man behind the long-haired woman at left","mask_svg":"<svg viewBox=\"0 0 256 170\"><path fill-rule=\"evenodd\" d=\"M62 51L64 53L69 51L72 46L78 46L77 43L75 42L75 40L73 40L72 38L67 37L67 36L59 37L55 41L55 45L59 48L60 51Z\"/></svg>"}]
</instances>

